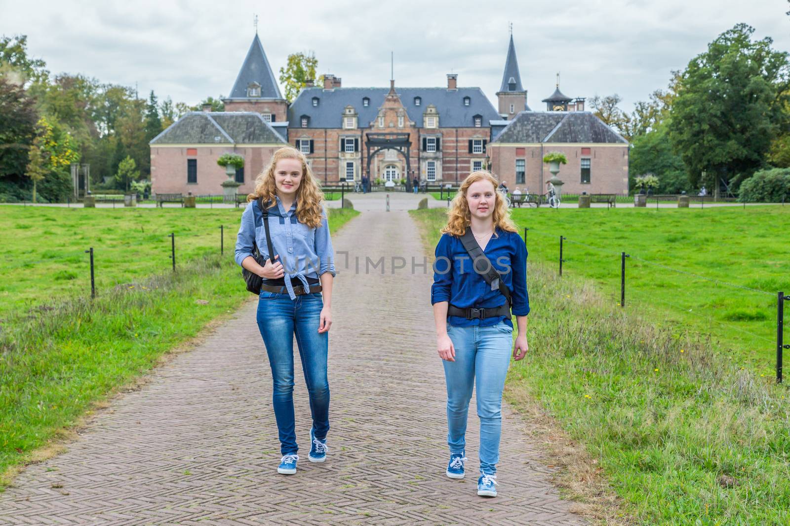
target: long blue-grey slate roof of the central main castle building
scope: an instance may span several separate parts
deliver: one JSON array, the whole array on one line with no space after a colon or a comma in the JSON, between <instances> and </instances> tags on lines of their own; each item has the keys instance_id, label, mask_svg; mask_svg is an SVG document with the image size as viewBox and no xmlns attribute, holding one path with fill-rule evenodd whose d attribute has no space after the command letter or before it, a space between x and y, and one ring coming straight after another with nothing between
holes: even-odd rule
<instances>
[{"instance_id":1,"label":"long blue-grey slate roof of the central main castle building","mask_svg":"<svg viewBox=\"0 0 790 526\"><path fill-rule=\"evenodd\" d=\"M482 125L498 119L499 114L480 88L395 88L401 97L406 114L420 128L423 127L423 112L429 104L436 106L440 128L474 127L475 115L480 115ZM341 128L345 106L354 106L359 114L360 128L367 128L378 115L389 88L304 88L288 108L291 128L299 128L303 115L310 117L308 128ZM318 106L313 106L313 97L318 97ZM371 99L363 106L362 99ZM416 106L414 98L420 98ZM464 97L469 97L469 106L464 106Z\"/></svg>"}]
</instances>

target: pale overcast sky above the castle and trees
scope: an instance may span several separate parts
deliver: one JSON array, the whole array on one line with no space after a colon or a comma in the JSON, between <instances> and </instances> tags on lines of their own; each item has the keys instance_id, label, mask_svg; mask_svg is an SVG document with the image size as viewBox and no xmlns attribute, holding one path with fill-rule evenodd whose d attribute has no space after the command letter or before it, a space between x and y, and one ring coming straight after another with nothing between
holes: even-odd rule
<instances>
[{"instance_id":1,"label":"pale overcast sky above the castle and trees","mask_svg":"<svg viewBox=\"0 0 790 526\"><path fill-rule=\"evenodd\" d=\"M187 2L0 0L0 34L28 35L28 51L54 73L150 90L196 104L228 95L258 34L276 76L288 54L314 50L318 73L344 86L479 86L495 103L513 38L529 105L554 91L618 93L621 106L664 88L672 69L739 22L790 50L786 0L510 0L510 2Z\"/></svg>"}]
</instances>

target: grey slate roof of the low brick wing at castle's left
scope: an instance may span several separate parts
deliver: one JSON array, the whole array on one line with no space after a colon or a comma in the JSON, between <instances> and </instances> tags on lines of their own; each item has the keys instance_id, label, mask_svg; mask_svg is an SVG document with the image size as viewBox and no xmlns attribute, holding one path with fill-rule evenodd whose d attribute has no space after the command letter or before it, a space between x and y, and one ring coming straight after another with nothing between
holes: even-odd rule
<instances>
[{"instance_id":1,"label":"grey slate roof of the low brick wing at castle's left","mask_svg":"<svg viewBox=\"0 0 790 526\"><path fill-rule=\"evenodd\" d=\"M283 144L261 114L253 111L190 111L149 144Z\"/></svg>"}]
</instances>

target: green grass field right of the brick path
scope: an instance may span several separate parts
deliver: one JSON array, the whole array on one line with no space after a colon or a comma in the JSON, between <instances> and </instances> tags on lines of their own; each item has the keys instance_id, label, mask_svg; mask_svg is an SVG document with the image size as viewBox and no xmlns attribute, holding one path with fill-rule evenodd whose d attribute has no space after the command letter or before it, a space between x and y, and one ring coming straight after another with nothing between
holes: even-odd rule
<instances>
[{"instance_id":1,"label":"green grass field right of the brick path","mask_svg":"<svg viewBox=\"0 0 790 526\"><path fill-rule=\"evenodd\" d=\"M412 212L431 254L443 212ZM743 367L747 348L738 348L737 360L728 359L732 341L720 333L705 337L720 325L705 318L700 323L682 311L693 301L705 305L708 316L769 310L768 304L757 300L739 307L735 297L727 297L732 292L709 291L697 282L684 281L684 292L675 289L672 274L645 266L629 271L630 282L643 282L632 296L642 308L623 309L608 270L619 275L619 247L609 245L622 244L634 255L700 275L766 289L783 286L788 212L667 212L516 213L519 222L546 237L533 231L528 236L530 352L511 364L506 397L525 412L539 404L584 447L590 465L566 465L559 483L566 496L596 504L597 487L582 477L600 468L621 499L608 515L619 524L790 524L790 396L786 384L777 386L771 378L767 358L773 348L751 351L763 356L757 371ZM571 244L559 278L559 233L591 244L596 239L595 246L608 251L582 253ZM648 271L654 274L639 274ZM709 293L717 303L733 303L711 309ZM736 323L758 331L762 321ZM562 464L565 453L556 454L555 464Z\"/></svg>"}]
</instances>

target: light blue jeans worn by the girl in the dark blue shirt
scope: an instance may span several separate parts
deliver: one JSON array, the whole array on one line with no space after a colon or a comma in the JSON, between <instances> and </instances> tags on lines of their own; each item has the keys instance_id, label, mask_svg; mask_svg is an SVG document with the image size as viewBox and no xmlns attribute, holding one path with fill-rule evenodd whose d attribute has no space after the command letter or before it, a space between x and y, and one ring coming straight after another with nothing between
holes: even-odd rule
<instances>
[{"instance_id":1,"label":"light blue jeans worn by the girl in the dark blue shirt","mask_svg":"<svg viewBox=\"0 0 790 526\"><path fill-rule=\"evenodd\" d=\"M447 382L447 445L450 453L464 453L469 401L472 386L476 386L480 471L495 475L502 435L502 390L513 349L513 327L504 322L487 327L448 323L447 335L455 348L454 362L442 360Z\"/></svg>"}]
</instances>

